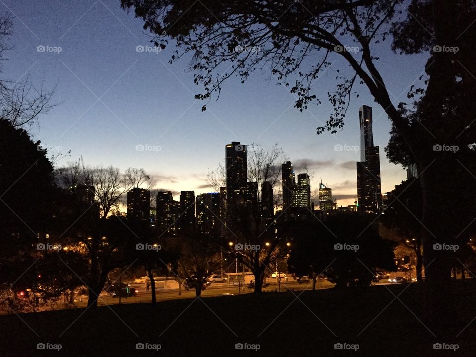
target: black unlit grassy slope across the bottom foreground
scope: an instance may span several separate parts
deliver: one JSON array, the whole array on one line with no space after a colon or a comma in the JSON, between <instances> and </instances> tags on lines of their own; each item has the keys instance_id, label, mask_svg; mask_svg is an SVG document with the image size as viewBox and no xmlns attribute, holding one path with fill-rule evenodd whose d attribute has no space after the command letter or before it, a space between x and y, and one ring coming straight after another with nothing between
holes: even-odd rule
<instances>
[{"instance_id":1,"label":"black unlit grassy slope across the bottom foreground","mask_svg":"<svg viewBox=\"0 0 476 357\"><path fill-rule=\"evenodd\" d=\"M0 356L474 356L476 284L448 289L458 314L436 337L414 283L0 316Z\"/></svg>"}]
</instances>

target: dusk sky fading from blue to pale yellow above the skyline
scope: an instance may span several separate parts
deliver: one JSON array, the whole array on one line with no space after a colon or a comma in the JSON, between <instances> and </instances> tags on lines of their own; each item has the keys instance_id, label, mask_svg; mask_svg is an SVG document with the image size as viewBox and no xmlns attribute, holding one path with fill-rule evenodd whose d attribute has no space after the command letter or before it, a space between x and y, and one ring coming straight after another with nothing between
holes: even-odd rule
<instances>
[{"instance_id":1,"label":"dusk sky fading from blue to pale yellow above the skyline","mask_svg":"<svg viewBox=\"0 0 476 357\"><path fill-rule=\"evenodd\" d=\"M336 145L360 144L358 108L366 104L373 108L374 144L380 146L382 192L406 179L403 168L385 156L390 121L362 85L354 88L359 97L351 99L344 128L316 135L317 126L332 114L327 92L335 91L336 76L351 73L338 55L312 86L320 105L300 112L289 88L277 86L263 68L244 84L228 80L218 101L213 98L202 112L204 103L194 99L201 87L193 83L189 61L169 64L175 50L170 45L136 51L151 45L150 36L142 21L119 5L119 0L0 1L0 14L9 13L14 21L2 79L29 76L37 87L42 81L46 88L56 85L52 101L58 105L31 129L50 154L71 151L56 165L82 156L91 166L142 167L157 180L156 188L174 191L177 199L181 190L213 190L206 176L224 160L227 143L278 143L296 174L307 167L311 191L322 178L339 206L354 204L360 153L339 151ZM388 41L374 50L391 99L405 101L426 58L396 55Z\"/></svg>"}]
</instances>

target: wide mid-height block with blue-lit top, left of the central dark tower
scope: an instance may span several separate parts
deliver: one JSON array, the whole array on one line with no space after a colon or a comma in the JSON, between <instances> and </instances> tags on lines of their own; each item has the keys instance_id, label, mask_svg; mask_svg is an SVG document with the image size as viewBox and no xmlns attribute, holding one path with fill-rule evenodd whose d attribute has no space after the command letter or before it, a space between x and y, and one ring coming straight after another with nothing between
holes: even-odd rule
<instances>
[{"instance_id":1,"label":"wide mid-height block with blue-lit top, left of the central dark tower","mask_svg":"<svg viewBox=\"0 0 476 357\"><path fill-rule=\"evenodd\" d=\"M220 216L220 194L203 193L197 196L197 229L203 233L217 232Z\"/></svg>"}]
</instances>

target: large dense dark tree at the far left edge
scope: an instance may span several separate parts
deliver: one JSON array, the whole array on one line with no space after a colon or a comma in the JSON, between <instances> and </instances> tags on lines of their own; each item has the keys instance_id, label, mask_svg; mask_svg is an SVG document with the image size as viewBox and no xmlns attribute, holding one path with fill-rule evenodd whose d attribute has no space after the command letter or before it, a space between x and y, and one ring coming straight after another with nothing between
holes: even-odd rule
<instances>
[{"instance_id":1,"label":"large dense dark tree at the far left edge","mask_svg":"<svg viewBox=\"0 0 476 357\"><path fill-rule=\"evenodd\" d=\"M34 309L37 298L58 298L78 284L63 264L77 256L62 250L57 239L65 229L66 197L55 187L53 166L40 148L24 129L0 119L0 283L11 308ZM27 291L30 297L19 295Z\"/></svg>"}]
</instances>

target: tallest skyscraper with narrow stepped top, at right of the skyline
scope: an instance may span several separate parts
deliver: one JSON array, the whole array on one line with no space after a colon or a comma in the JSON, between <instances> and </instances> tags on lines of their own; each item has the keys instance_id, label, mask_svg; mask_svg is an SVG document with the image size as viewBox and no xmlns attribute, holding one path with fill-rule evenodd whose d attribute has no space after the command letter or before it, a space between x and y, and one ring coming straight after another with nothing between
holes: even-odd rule
<instances>
[{"instance_id":1,"label":"tallest skyscraper with narrow stepped top, at right of the skyline","mask_svg":"<svg viewBox=\"0 0 476 357\"><path fill-rule=\"evenodd\" d=\"M357 161L357 205L358 211L378 213L382 206L380 183L380 152L373 146L372 108L360 107L360 161Z\"/></svg>"}]
</instances>

